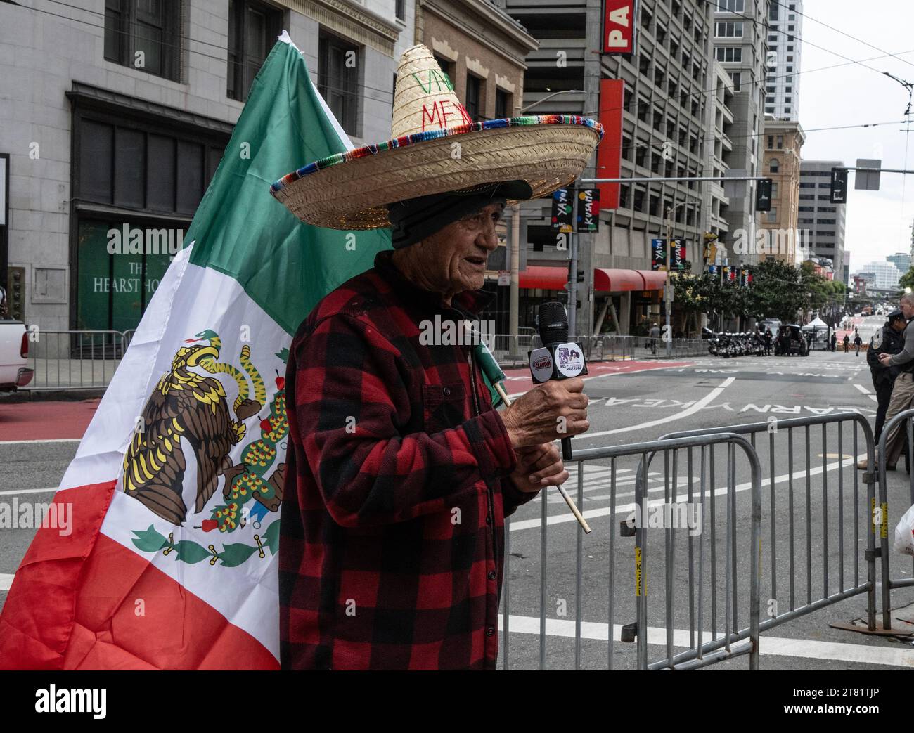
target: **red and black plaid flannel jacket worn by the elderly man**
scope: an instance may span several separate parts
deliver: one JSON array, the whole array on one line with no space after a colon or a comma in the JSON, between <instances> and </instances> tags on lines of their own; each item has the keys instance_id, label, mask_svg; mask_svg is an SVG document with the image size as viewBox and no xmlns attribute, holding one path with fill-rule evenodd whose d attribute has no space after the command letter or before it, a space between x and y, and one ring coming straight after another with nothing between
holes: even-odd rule
<instances>
[{"instance_id":1,"label":"red and black plaid flannel jacket worn by the elderly man","mask_svg":"<svg viewBox=\"0 0 914 733\"><path fill-rule=\"evenodd\" d=\"M280 542L286 669L494 669L504 519L533 498L472 345L420 323L473 320L377 254L292 342ZM464 339L465 340L465 339ZM472 377L471 377L472 374Z\"/></svg>"}]
</instances>

